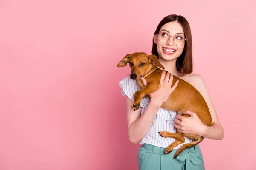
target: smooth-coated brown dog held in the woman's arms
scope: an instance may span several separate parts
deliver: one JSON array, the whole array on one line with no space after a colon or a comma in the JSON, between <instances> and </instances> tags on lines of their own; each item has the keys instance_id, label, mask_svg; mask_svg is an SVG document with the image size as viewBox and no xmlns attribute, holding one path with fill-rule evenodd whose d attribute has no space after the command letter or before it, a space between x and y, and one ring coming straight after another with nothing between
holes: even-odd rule
<instances>
[{"instance_id":1,"label":"smooth-coated brown dog held in the woman's arms","mask_svg":"<svg viewBox=\"0 0 256 170\"><path fill-rule=\"evenodd\" d=\"M149 93L160 88L160 79L163 71L160 68L165 68L163 65L161 65L155 55L148 55L146 53L127 54L118 63L117 67L124 67L127 65L127 63L129 63L131 67L131 79L136 79L141 88L140 91L136 91L134 93L134 104L131 106L131 108L134 108L135 111L135 109L139 109L140 101L143 97L149 97ZM140 79L141 77L146 79L146 86L143 85L143 82ZM167 101L163 103L161 108L169 111L177 111L179 114L186 117L189 117L189 115L183 114L183 111L189 110L195 112L201 122L207 126L210 126L212 124L212 117L203 96L191 84L176 76L173 76L171 87L175 84L176 80L179 80L179 84ZM195 146L204 139L204 137L199 135L185 134L180 132L170 133L167 131L162 131L159 134L162 137L171 137L176 139L175 142L166 148L164 152L166 154L172 152L173 148L177 145L184 143L185 136L192 140L192 142L184 144L177 150L174 159L180 155L183 150Z\"/></svg>"}]
</instances>

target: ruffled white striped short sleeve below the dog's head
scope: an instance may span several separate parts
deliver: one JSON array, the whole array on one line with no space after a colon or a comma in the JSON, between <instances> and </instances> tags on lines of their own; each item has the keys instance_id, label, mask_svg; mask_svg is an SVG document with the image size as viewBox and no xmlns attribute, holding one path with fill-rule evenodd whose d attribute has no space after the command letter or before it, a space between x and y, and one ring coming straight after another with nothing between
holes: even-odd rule
<instances>
[{"instance_id":1,"label":"ruffled white striped short sleeve below the dog's head","mask_svg":"<svg viewBox=\"0 0 256 170\"><path fill-rule=\"evenodd\" d=\"M140 90L137 81L131 79L130 76L128 75L119 82L119 85L122 88L121 94L123 96L128 96L128 98L134 102L134 93ZM143 98L142 102L140 103L140 107L145 108L148 105L148 102L149 100L147 98Z\"/></svg>"}]
</instances>

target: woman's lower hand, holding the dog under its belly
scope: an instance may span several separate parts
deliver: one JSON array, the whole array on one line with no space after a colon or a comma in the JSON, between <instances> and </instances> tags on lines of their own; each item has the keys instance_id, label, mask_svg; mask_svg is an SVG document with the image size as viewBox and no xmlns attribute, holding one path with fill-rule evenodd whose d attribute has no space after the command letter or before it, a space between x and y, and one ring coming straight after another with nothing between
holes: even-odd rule
<instances>
[{"instance_id":1,"label":"woman's lower hand, holding the dog under its belly","mask_svg":"<svg viewBox=\"0 0 256 170\"><path fill-rule=\"evenodd\" d=\"M183 113L190 115L190 117L176 115L174 122L177 131L204 136L207 126L201 122L197 114L192 111L184 111Z\"/></svg>"}]
</instances>

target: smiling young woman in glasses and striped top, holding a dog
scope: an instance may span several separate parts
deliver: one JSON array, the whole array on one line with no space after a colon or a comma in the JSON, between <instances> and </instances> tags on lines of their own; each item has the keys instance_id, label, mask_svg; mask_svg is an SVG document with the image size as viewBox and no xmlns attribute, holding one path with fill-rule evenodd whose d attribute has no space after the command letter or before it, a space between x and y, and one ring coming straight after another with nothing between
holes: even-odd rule
<instances>
[{"instance_id":1,"label":"smiling young woman in glasses and striped top, holding a dog","mask_svg":"<svg viewBox=\"0 0 256 170\"><path fill-rule=\"evenodd\" d=\"M143 99L138 110L131 109L134 102L133 94L140 90L136 80L127 76L119 82L122 88L121 93L126 96L129 140L133 144L143 144L138 151L140 170L204 169L204 161L198 145L184 150L177 159L173 159L177 149L191 140L186 138L186 141L175 147L171 153L164 154L165 148L175 139L163 138L158 133L159 131L172 133L179 131L214 140L221 140L224 137L224 130L204 79L198 74L192 74L192 36L189 23L184 17L169 15L160 21L154 32L152 54L157 56L168 73L165 79L162 74L161 88L150 94L151 99ZM189 82L204 97L212 115L211 126L204 125L196 113L191 111L185 112L190 117L183 117L176 116L176 112L160 108L178 85L176 82L172 88L170 87L173 75ZM146 85L145 79L142 80Z\"/></svg>"}]
</instances>

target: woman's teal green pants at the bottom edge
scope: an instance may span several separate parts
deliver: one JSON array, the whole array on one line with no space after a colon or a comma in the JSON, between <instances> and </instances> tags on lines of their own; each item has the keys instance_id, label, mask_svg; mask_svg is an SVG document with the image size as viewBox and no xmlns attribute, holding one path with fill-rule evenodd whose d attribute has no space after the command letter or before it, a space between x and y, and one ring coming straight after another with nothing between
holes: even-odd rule
<instances>
[{"instance_id":1,"label":"woman's teal green pants at the bottom edge","mask_svg":"<svg viewBox=\"0 0 256 170\"><path fill-rule=\"evenodd\" d=\"M198 145L187 148L173 159L177 149L164 154L166 148L143 144L138 150L140 170L204 170L204 161Z\"/></svg>"}]
</instances>

